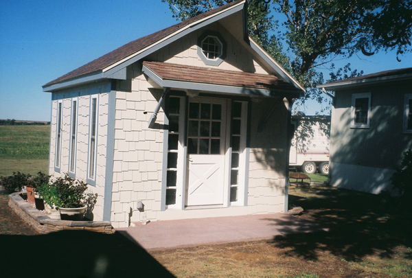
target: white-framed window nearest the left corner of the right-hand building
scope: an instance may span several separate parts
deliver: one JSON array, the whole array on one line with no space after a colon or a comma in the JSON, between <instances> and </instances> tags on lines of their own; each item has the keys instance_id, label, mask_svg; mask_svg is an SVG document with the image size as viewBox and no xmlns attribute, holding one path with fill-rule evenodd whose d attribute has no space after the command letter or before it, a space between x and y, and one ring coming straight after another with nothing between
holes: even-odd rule
<instances>
[{"instance_id":1,"label":"white-framed window nearest the left corner of the right-hand building","mask_svg":"<svg viewBox=\"0 0 412 278\"><path fill-rule=\"evenodd\" d=\"M352 95L352 128L369 128L371 93Z\"/></svg>"}]
</instances>

